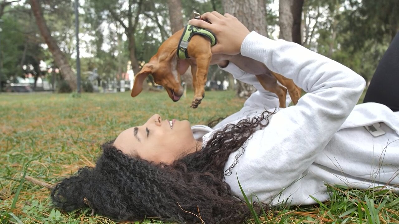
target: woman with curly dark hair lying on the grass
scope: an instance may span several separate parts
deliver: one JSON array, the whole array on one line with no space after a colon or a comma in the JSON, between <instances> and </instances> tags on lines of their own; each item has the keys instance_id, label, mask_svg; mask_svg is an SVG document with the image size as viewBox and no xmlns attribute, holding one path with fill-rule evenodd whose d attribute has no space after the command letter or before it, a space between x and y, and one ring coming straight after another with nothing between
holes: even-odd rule
<instances>
[{"instance_id":1,"label":"woman with curly dark hair lying on the grass","mask_svg":"<svg viewBox=\"0 0 399 224\"><path fill-rule=\"evenodd\" d=\"M325 201L330 198L325 184L399 189L399 114L393 112L399 108L399 35L367 92L387 106L355 106L365 81L344 65L249 32L228 14L208 12L202 18L212 24L190 23L215 33L214 54L261 61L308 93L296 106L275 110L275 94L254 75L221 61L236 79L258 88L239 112L213 129L155 114L103 144L94 168L58 183L51 193L55 206L65 211L90 206L118 220L231 224L250 218L238 181L247 196L271 205ZM260 211L264 204L254 206Z\"/></svg>"}]
</instances>

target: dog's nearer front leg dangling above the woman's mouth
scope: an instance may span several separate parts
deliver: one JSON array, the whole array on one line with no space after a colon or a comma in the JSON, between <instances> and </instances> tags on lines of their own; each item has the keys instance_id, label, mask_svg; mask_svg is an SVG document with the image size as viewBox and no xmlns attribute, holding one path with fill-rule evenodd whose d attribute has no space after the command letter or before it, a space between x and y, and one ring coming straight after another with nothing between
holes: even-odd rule
<instances>
[{"instance_id":1,"label":"dog's nearer front leg dangling above the woman's mouth","mask_svg":"<svg viewBox=\"0 0 399 224\"><path fill-rule=\"evenodd\" d=\"M208 75L209 63L212 55L200 55L196 58L197 71L193 73L194 99L191 104L192 108L197 108L201 100L205 97L205 83ZM195 77L195 78L194 78ZM196 87L195 87L196 86Z\"/></svg>"}]
</instances>

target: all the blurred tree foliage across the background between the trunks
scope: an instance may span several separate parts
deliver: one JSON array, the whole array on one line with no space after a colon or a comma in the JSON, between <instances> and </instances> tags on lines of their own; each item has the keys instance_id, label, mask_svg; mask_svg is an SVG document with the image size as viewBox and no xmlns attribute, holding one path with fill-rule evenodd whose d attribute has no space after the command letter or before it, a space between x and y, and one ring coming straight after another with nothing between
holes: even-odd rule
<instances>
[{"instance_id":1,"label":"all the blurred tree foliage across the background between the trunks","mask_svg":"<svg viewBox=\"0 0 399 224\"><path fill-rule=\"evenodd\" d=\"M82 76L97 68L101 79L113 79L126 72L129 61L128 4L132 4L132 18L138 12L139 0L87 0L81 1L80 32ZM138 63L147 62L160 44L169 37L170 22L167 1L141 0L138 25L134 31L135 56ZM268 33L275 38L278 30L278 9L275 0L264 0ZM216 10L223 13L222 0L182 0L183 22L192 13ZM43 14L53 37L62 51L75 66L75 28L73 2L65 0L42 1ZM347 65L366 80L370 80L379 59L388 47L393 35L399 31L399 2L396 0L307 0L304 4L304 46ZM113 16L114 12L116 16ZM40 61L53 66L47 46L38 35L34 18L27 0L6 7L2 48L4 78L37 74ZM26 49L26 57L22 55ZM26 70L22 69L21 61ZM36 66L34 66L36 65ZM226 73L211 67L209 80L223 81Z\"/></svg>"}]
</instances>

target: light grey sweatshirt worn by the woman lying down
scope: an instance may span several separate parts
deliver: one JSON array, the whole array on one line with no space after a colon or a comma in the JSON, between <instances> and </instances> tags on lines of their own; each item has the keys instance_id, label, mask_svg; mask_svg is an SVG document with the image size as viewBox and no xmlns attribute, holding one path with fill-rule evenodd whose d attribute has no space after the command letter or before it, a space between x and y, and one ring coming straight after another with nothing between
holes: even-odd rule
<instances>
[{"instance_id":1,"label":"light grey sweatshirt worn by the woman lying down","mask_svg":"<svg viewBox=\"0 0 399 224\"><path fill-rule=\"evenodd\" d=\"M316 203L310 195L328 200L325 183L399 190L399 113L377 103L355 106L365 87L362 77L296 43L271 40L255 31L243 41L241 54L292 79L307 94L296 106L271 116L269 125L243 145L245 153L226 177L235 195L243 198L237 176L247 196L256 195L272 204ZM277 96L264 90L254 75L232 63L224 70L258 91L213 130L193 126L194 136L204 142L228 123L257 116L265 109L273 111L279 105ZM376 132L365 128L373 124ZM225 170L239 153L241 150L230 155Z\"/></svg>"}]
</instances>

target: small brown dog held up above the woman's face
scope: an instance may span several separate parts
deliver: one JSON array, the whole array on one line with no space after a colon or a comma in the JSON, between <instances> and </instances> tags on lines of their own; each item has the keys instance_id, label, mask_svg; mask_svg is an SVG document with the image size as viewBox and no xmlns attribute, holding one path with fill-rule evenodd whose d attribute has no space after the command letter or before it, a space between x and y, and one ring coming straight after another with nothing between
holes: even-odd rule
<instances>
[{"instance_id":1,"label":"small brown dog held up above the woman's face","mask_svg":"<svg viewBox=\"0 0 399 224\"><path fill-rule=\"evenodd\" d=\"M273 73L263 63L242 55L219 55L219 57L214 55L216 57L212 59L211 43L209 39L201 35L192 36L188 43L187 49L190 58L178 58L177 47L182 33L183 29L169 37L159 47L156 55L152 56L150 61L142 67L141 71L134 78L132 97L137 96L142 91L144 80L149 74L152 74L154 82L164 86L169 97L174 102L178 101L183 95L180 75L185 73L189 65L191 65L194 86L194 99L191 107L197 108L205 96L205 83L211 61L212 64L217 64L220 61L228 60L243 71L256 75L263 88L277 94L280 107L285 107L287 89L292 102L294 104L298 102L300 88L293 83L292 79L287 79L282 75ZM277 81L286 86L286 88L280 86Z\"/></svg>"}]
</instances>

